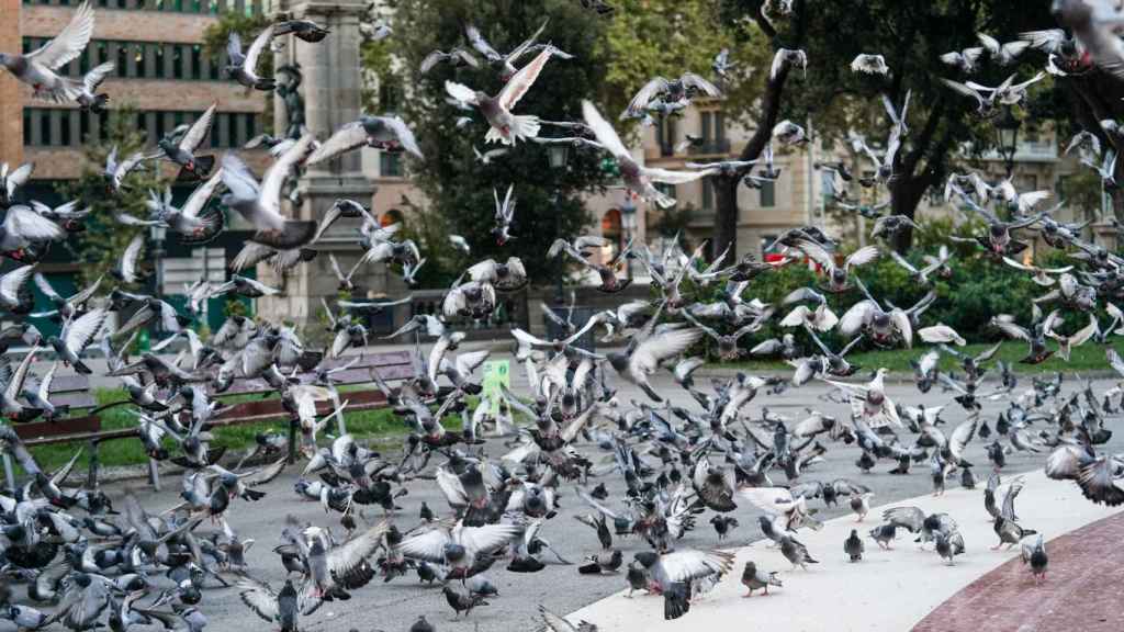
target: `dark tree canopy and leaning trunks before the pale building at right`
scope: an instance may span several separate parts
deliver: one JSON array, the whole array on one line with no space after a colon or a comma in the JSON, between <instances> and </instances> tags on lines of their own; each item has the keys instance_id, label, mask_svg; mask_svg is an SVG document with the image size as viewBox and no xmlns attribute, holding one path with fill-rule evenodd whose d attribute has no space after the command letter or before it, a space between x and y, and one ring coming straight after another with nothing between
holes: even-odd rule
<instances>
[{"instance_id":1,"label":"dark tree canopy and leaning trunks before the pale building at right","mask_svg":"<svg viewBox=\"0 0 1124 632\"><path fill-rule=\"evenodd\" d=\"M889 126L881 115L879 96L887 94L900 107L906 92L912 91L909 134L897 155L895 179L889 184L892 213L909 217L915 215L925 192L964 157L966 142L971 142L976 155L992 147L995 142L990 123L975 114L975 102L939 81L942 76L966 79L942 63L939 56L978 46L977 31L1009 42L1019 31L1052 26L1045 2L870 0L809 3L797 0L791 16L773 22L761 17L761 3L758 0L724 2L729 16L755 16L773 49L781 46L804 49L808 55L807 79L794 83L794 74L782 71L776 79L765 80L756 133L741 159L759 157L781 114L799 123L810 119L816 135L828 145L851 130L865 134L872 144L885 141ZM733 21L733 17L727 21ZM862 53L882 54L890 75L852 72L851 61ZM1037 55L1025 54L1017 64L998 67L984 60L980 72L971 79L986 85L998 84L1012 73L1030 79L1041 69L1041 61ZM1049 92L1048 82L1034 94L1044 92ZM715 186L718 215L715 241L722 249L736 238L737 178L719 178ZM899 247L908 244L908 233L903 240Z\"/></svg>"}]
</instances>

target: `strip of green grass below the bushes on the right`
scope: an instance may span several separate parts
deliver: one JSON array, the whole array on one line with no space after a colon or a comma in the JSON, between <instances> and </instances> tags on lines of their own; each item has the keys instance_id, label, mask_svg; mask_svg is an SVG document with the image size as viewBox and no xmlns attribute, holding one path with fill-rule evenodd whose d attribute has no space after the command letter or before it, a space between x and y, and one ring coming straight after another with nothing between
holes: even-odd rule
<instances>
[{"instance_id":1,"label":"strip of green grass below the bushes on the right","mask_svg":"<svg viewBox=\"0 0 1124 632\"><path fill-rule=\"evenodd\" d=\"M867 351L862 353L854 353L847 355L847 360L851 363L859 364L863 370L874 370L879 367L883 367L891 372L896 373L912 373L913 368L909 365L910 360L917 360L922 355L928 352L930 345L917 346L914 349L894 349L888 351ZM962 353L968 353L975 355L980 353L985 349L990 347L991 344L969 344L967 346L957 347L958 351ZM1124 343L1114 342L1113 346L1116 351L1124 353ZM1109 370L1108 361L1105 360L1105 347L1094 343L1086 343L1078 346L1070 354L1069 362L1066 362L1061 358L1053 355L1045 362L1041 364L1019 364L1018 361L1026 356L1026 343L1022 341L1007 341L1003 343L999 347L999 353L996 354L995 359L988 364L989 367L995 365L996 360L1003 360L1009 362L1014 367L1015 371L1018 373L1055 373L1062 371L1066 373L1073 373L1077 371L1090 371L1090 370ZM744 369L746 371L780 371L790 370L790 368L782 363L771 360L759 361L750 360L744 362L734 362L726 364L727 367L736 367ZM944 371L955 371L962 372L960 370L960 362L955 358L941 354L940 362L941 370ZM994 372L994 371L992 371Z\"/></svg>"}]
</instances>

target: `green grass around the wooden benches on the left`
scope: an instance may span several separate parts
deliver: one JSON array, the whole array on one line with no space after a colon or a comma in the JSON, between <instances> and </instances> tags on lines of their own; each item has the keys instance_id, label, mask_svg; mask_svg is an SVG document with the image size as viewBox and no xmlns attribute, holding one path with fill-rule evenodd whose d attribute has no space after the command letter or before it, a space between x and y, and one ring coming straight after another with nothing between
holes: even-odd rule
<instances>
[{"instance_id":1,"label":"green grass around the wooden benches on the left","mask_svg":"<svg viewBox=\"0 0 1124 632\"><path fill-rule=\"evenodd\" d=\"M347 390L355 390L355 388L341 388L342 392L346 392ZM97 398L99 406L127 399L125 391L118 389L94 389L94 397ZM238 395L224 397L221 400L226 404L235 404L260 397L260 395ZM346 399L346 395L344 395L344 399ZM100 416L101 426L105 430L135 427L137 424L136 416L129 412L129 406L109 408L100 413ZM361 441L377 437L397 437L406 434L407 432L406 423L398 418L398 416L395 415L390 408L375 408L370 410L344 413L344 418L347 423L347 432ZM444 419L444 424L447 428L459 430L461 426L461 418L459 415L450 416ZM218 427L211 431L216 437L211 445L227 446L228 454L244 452L254 444L254 436L263 431L288 433L288 423L284 418L277 418L268 422L241 426ZM323 440L324 435L321 434L320 436ZM175 450L175 444L170 440L165 441L167 441L167 446L169 450L172 451L172 454L178 454L179 452ZM85 445L81 445L79 443L60 443L54 445L40 445L31 448L30 450L40 467L45 470L52 470L69 461L71 457L74 455L74 451L79 449L82 449L83 453L79 458L75 468L84 471L88 467L89 457L89 449ZM148 460L140 445L140 441L136 439L107 441L99 446L98 457L100 458L102 466L109 467L137 466L143 464ZM17 476L18 475L19 472L17 472Z\"/></svg>"}]
</instances>

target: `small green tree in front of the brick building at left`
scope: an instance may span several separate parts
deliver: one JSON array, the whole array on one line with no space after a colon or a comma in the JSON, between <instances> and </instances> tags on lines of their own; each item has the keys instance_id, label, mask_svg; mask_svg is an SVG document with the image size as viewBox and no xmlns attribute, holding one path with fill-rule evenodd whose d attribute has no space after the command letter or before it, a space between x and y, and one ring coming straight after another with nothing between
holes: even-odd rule
<instances>
[{"instance_id":1,"label":"small green tree in front of the brick building at left","mask_svg":"<svg viewBox=\"0 0 1124 632\"><path fill-rule=\"evenodd\" d=\"M109 190L102 175L102 165L106 164L106 157L112 148L117 147L118 160L124 160L144 148L145 137L136 130L135 121L136 110L128 105L110 110L107 139L103 143L85 145L85 169L82 175L78 180L62 181L57 184L58 195L64 199L80 199L83 205L93 209L85 220L85 231L76 238L71 237L69 243L73 244L72 247L82 263L79 269L82 283L90 283L98 277L106 276L103 290L115 287L116 280L108 273L133 237L143 231L118 223L115 215L124 213L135 217L147 217L145 200L148 191L163 191L165 186L158 172L149 168L134 170L126 178L120 192L114 195Z\"/></svg>"}]
</instances>

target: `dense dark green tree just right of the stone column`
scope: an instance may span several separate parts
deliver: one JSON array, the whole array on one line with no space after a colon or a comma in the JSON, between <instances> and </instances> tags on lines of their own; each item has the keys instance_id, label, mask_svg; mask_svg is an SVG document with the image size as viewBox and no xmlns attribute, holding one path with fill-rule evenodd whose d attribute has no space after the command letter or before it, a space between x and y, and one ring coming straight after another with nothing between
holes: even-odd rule
<instances>
[{"instance_id":1,"label":"dense dark green tree just right of the stone column","mask_svg":"<svg viewBox=\"0 0 1124 632\"><path fill-rule=\"evenodd\" d=\"M389 38L400 62L391 64L400 74L390 80L406 88L400 114L415 130L426 155L424 161L408 163L408 169L428 198L429 210L447 223L450 232L468 240L473 261L516 255L531 278L553 277L558 262L547 261L544 254L551 242L558 236L579 234L588 225L579 193L608 184L600 168L602 156L599 152L571 148L566 169L552 170L543 145L522 142L506 155L482 164L474 160L473 147L481 152L491 148L483 142L487 124L479 112L446 103L444 83L453 80L496 94L502 85L496 69L487 64L480 69L438 64L425 75L416 73L432 51L466 46L464 28L469 24L478 26L496 49L507 52L534 33L545 18L551 24L542 39L573 54L574 58L552 58L516 111L534 114L544 120L573 120L580 115L580 100L595 96L602 84L606 67L606 60L598 52L605 22L575 2L401 0ZM520 60L519 65L529 58ZM456 119L463 116L471 116L472 123L462 129ZM544 126L541 135L569 133ZM495 225L492 190L502 198L513 183L518 200L515 240L500 246L490 234ZM411 218L406 217L405 223L409 228Z\"/></svg>"}]
</instances>

